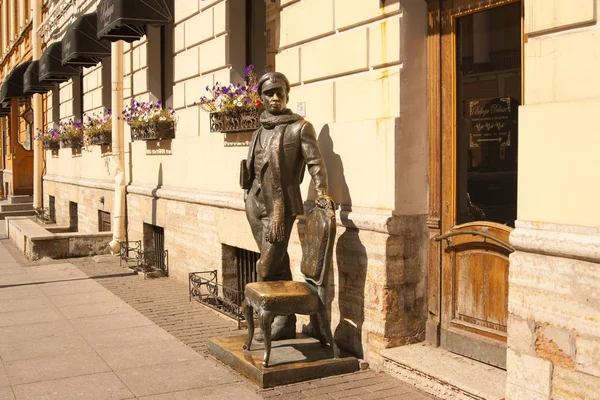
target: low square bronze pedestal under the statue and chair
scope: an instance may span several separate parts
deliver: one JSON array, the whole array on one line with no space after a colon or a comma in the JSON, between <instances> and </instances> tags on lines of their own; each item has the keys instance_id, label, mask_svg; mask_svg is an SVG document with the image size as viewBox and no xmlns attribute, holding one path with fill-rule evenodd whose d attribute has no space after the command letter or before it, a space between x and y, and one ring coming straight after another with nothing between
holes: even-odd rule
<instances>
[{"instance_id":1,"label":"low square bronze pedestal under the statue and chair","mask_svg":"<svg viewBox=\"0 0 600 400\"><path fill-rule=\"evenodd\" d=\"M252 351L244 351L245 339L246 335L212 338L208 341L208 351L261 388L348 374L359 369L355 357L342 353L340 358L334 359L331 347L321 347L318 340L304 335L272 342L271 366L263 368L263 344L253 341Z\"/></svg>"}]
</instances>

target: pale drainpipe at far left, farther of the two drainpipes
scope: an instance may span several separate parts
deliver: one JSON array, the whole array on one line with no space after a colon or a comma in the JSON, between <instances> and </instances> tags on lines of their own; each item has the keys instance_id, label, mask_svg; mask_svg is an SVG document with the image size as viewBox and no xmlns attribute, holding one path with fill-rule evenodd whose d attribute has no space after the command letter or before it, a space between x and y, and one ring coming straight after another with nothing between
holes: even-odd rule
<instances>
[{"instance_id":1,"label":"pale drainpipe at far left, farther of the two drainpipes","mask_svg":"<svg viewBox=\"0 0 600 400\"><path fill-rule=\"evenodd\" d=\"M34 60L39 60L42 56L42 43L39 33L36 33L38 27L42 23L42 0L33 0L31 3L33 8L32 15L32 30L31 44L32 55ZM33 95L33 136L37 135L44 128L42 119L42 95ZM33 139L33 138L32 138ZM40 209L44 205L43 199L43 176L44 158L41 140L32 140L33 143L33 208Z\"/></svg>"}]
</instances>

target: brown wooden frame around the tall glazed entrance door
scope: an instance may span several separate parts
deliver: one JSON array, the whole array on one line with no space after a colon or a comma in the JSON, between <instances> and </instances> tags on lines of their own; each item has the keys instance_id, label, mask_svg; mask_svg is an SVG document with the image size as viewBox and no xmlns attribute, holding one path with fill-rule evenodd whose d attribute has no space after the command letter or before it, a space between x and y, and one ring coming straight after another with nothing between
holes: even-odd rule
<instances>
[{"instance_id":1,"label":"brown wooden frame around the tall glazed entrance door","mask_svg":"<svg viewBox=\"0 0 600 400\"><path fill-rule=\"evenodd\" d=\"M435 240L451 226L452 203L442 204L443 191L453 190L455 182L443 182L442 165L453 158L442 152L443 148L456 150L456 18L479 11L513 3L521 3L521 104L524 104L524 57L523 47L527 37L523 30L523 0L425 0L427 2L427 130L428 130L428 316L425 340L433 346L441 345L443 276L442 260L444 243ZM444 124L451 118L452 124ZM452 176L456 175L453 165ZM452 213L453 214L453 213Z\"/></svg>"}]
</instances>

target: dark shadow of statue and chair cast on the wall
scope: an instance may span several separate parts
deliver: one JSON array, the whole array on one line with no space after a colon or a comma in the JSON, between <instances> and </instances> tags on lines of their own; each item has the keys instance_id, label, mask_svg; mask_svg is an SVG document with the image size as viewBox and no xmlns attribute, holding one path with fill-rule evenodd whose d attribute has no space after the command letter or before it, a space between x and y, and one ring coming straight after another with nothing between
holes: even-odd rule
<instances>
[{"instance_id":1,"label":"dark shadow of statue and chair cast on the wall","mask_svg":"<svg viewBox=\"0 0 600 400\"><path fill-rule=\"evenodd\" d=\"M347 219L352 210L352 198L344 176L342 158L334 152L329 125L325 124L318 134L319 148L325 159L329 182L329 195L335 201L345 228L335 243L337 268L330 268L326 277L327 312L331 316L332 302L336 298L334 274L338 274L338 293L340 322L335 327L336 343L363 357L362 325L364 322L364 293L367 274L367 252L361 243L358 229ZM316 198L314 185L310 184L307 200ZM342 229L338 228L338 232ZM302 237L301 237L302 239ZM334 328L332 326L332 328ZM312 334L312 327L303 327L303 331Z\"/></svg>"}]
</instances>

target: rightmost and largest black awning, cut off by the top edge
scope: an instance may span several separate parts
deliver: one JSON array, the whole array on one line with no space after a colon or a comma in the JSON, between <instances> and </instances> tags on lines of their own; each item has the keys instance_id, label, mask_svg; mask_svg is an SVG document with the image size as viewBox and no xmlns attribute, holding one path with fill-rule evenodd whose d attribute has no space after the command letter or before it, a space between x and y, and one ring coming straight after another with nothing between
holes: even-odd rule
<instances>
[{"instance_id":1,"label":"rightmost and largest black awning, cut off by the top edge","mask_svg":"<svg viewBox=\"0 0 600 400\"><path fill-rule=\"evenodd\" d=\"M101 0L96 13L99 39L133 42L146 34L146 25L173 21L173 0Z\"/></svg>"}]
</instances>

